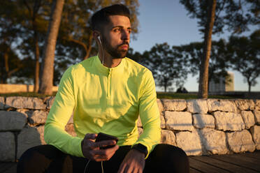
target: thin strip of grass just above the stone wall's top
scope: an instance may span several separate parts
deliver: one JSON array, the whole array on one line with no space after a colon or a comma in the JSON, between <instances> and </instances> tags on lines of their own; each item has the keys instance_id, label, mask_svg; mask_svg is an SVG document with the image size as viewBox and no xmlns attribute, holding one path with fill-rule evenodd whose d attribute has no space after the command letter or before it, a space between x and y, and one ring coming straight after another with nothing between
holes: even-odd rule
<instances>
[{"instance_id":1,"label":"thin strip of grass just above the stone wall's top","mask_svg":"<svg viewBox=\"0 0 260 173\"><path fill-rule=\"evenodd\" d=\"M53 92L51 96L55 96L56 92ZM44 95L42 93L34 93L34 92L27 92L27 93L0 93L0 96L10 97L10 96L23 96L23 97L37 97L37 98L45 98L50 95ZM168 98L168 99L196 99L198 96L196 93L165 93L165 92L157 92L157 98ZM208 98L221 98L221 99L232 99L238 98L236 96L209 96Z\"/></svg>"}]
</instances>

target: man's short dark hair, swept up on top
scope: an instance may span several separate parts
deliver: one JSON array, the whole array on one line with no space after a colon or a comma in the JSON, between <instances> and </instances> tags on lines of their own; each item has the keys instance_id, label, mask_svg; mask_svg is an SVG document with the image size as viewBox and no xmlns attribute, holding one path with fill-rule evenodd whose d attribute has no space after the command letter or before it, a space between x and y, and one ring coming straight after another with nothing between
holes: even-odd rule
<instances>
[{"instance_id":1,"label":"man's short dark hair, swept up on top","mask_svg":"<svg viewBox=\"0 0 260 173\"><path fill-rule=\"evenodd\" d=\"M92 30L101 31L102 27L110 22L110 20L108 19L110 15L124 15L130 20L130 12L127 6L124 6L121 3L107 6L92 15L90 19Z\"/></svg>"}]
</instances>

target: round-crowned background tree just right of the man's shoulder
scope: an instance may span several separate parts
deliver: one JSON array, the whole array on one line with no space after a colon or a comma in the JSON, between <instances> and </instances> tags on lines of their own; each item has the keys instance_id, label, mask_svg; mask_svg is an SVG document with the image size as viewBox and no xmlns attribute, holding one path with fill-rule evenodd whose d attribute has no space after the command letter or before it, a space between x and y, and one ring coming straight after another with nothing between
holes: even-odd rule
<instances>
[{"instance_id":1,"label":"round-crowned background tree just right of the man's shoulder","mask_svg":"<svg viewBox=\"0 0 260 173\"><path fill-rule=\"evenodd\" d=\"M152 70L157 86L164 87L164 91L173 83L182 87L187 79L185 61L181 54L177 54L167 43L156 44L149 52L145 52L145 66Z\"/></svg>"}]
</instances>

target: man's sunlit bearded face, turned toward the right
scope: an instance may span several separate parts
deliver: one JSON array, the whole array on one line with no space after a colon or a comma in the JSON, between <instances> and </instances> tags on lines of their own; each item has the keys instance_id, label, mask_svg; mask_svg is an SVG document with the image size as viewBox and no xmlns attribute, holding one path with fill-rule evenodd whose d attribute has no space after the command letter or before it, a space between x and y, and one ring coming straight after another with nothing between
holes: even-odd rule
<instances>
[{"instance_id":1,"label":"man's sunlit bearded face, turned toward the right","mask_svg":"<svg viewBox=\"0 0 260 173\"><path fill-rule=\"evenodd\" d=\"M123 15L110 15L110 23L103 28L103 49L113 59L122 59L129 50L131 23L128 17Z\"/></svg>"}]
</instances>

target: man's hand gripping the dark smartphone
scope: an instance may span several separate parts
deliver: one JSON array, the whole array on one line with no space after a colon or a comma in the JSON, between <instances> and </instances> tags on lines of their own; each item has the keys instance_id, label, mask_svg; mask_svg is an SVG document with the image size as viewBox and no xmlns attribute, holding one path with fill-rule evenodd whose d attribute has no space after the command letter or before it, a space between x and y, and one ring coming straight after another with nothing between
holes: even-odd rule
<instances>
[{"instance_id":1,"label":"man's hand gripping the dark smartphone","mask_svg":"<svg viewBox=\"0 0 260 173\"><path fill-rule=\"evenodd\" d=\"M81 142L82 153L85 158L95 160L96 162L109 160L119 149L115 140L103 140L100 142L94 142L97 134L87 133L84 140ZM99 149L101 146L115 145L110 149Z\"/></svg>"}]
</instances>

